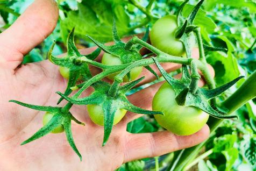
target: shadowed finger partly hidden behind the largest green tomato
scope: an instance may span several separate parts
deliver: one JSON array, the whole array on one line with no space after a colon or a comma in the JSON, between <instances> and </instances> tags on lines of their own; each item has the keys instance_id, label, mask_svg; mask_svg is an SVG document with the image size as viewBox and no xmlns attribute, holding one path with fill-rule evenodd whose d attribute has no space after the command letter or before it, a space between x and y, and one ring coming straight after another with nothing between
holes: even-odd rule
<instances>
[{"instance_id":1,"label":"shadowed finger partly hidden behind the largest green tomato","mask_svg":"<svg viewBox=\"0 0 256 171\"><path fill-rule=\"evenodd\" d=\"M181 74L175 75L174 77L175 77L175 79L180 79ZM147 87L143 90L136 92L135 94L128 96L128 99L132 104L134 104L140 108L152 110L153 97L163 83L164 83L164 81L153 84L150 87ZM202 87L203 85L204 85L204 81L200 80L198 82L198 86ZM127 124L127 123L131 122L132 120L137 119L141 116L144 116L144 115L127 111L127 113L126 113L125 117L122 119L121 123Z\"/></svg>"}]
</instances>

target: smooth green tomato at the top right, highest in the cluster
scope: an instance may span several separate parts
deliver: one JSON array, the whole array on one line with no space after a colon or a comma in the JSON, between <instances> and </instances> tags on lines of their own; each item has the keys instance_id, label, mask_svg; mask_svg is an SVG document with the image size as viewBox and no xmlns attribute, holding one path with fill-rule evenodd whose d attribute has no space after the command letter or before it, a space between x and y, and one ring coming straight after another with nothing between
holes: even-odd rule
<instances>
[{"instance_id":1,"label":"smooth green tomato at the top right, highest in the cluster","mask_svg":"<svg viewBox=\"0 0 256 171\"><path fill-rule=\"evenodd\" d=\"M150 32L151 44L160 51L175 56L185 56L185 48L180 40L175 38L177 28L176 16L165 16L157 20Z\"/></svg>"}]
</instances>

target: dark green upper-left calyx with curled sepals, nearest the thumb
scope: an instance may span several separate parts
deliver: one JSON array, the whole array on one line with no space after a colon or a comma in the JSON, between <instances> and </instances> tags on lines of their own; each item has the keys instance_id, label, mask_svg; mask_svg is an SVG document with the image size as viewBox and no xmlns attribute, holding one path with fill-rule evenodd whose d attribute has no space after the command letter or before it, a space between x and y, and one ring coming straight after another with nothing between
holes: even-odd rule
<instances>
[{"instance_id":1,"label":"dark green upper-left calyx with curled sepals, nearest the thumb","mask_svg":"<svg viewBox=\"0 0 256 171\"><path fill-rule=\"evenodd\" d=\"M77 80L81 77L83 80L87 80L91 77L91 73L89 70L89 67L86 63L79 63L76 62L75 59L82 57L83 55L80 54L80 52L77 50L74 42L74 32L75 28L69 33L68 38L67 38L67 56L63 58L56 58L52 55L52 51L55 45L55 42L53 43L50 51L48 52L48 59L55 65L65 67L69 69L69 79L68 79L68 84L65 90L65 95L70 95L72 92L71 87L74 87ZM86 58L90 60L94 60L99 53L101 52L101 49L97 48L93 53L84 55ZM59 104L63 98L60 98L58 103Z\"/></svg>"}]
</instances>

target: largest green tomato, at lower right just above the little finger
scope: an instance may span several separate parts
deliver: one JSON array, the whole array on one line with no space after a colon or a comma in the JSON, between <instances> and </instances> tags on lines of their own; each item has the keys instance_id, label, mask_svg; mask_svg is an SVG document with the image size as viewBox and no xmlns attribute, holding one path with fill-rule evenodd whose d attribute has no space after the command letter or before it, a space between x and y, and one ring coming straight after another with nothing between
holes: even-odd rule
<instances>
[{"instance_id":1,"label":"largest green tomato, at lower right just above the little finger","mask_svg":"<svg viewBox=\"0 0 256 171\"><path fill-rule=\"evenodd\" d=\"M175 92L166 82L153 98L152 109L165 115L154 115L157 122L170 132L188 136L201 130L209 115L194 106L180 106L175 101Z\"/></svg>"}]
</instances>

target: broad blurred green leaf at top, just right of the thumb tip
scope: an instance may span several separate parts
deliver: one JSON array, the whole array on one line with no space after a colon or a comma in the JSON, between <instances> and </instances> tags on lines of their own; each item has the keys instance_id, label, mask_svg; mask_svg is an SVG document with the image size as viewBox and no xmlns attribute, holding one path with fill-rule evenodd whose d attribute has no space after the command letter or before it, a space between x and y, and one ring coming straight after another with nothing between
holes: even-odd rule
<instances>
[{"instance_id":1,"label":"broad blurred green leaf at top, just right of the thumb tip","mask_svg":"<svg viewBox=\"0 0 256 171\"><path fill-rule=\"evenodd\" d=\"M130 19L124 8L122 1L82 1L78 4L78 11L67 12L67 17L61 20L61 24L68 30L75 26L76 34L90 35L100 41L110 41L113 16L116 18L119 35L122 37L129 32Z\"/></svg>"}]
</instances>

